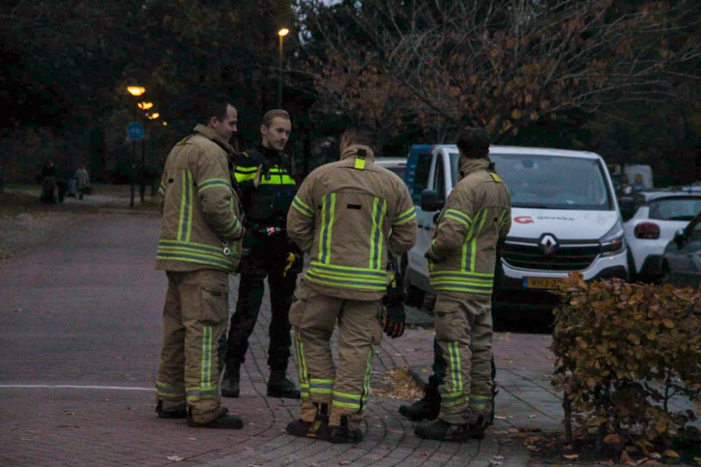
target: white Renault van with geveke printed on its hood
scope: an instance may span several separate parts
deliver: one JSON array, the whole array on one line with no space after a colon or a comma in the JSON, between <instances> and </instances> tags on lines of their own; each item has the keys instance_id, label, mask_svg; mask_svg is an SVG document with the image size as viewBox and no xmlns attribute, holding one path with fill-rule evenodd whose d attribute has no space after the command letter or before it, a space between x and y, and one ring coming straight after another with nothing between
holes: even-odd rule
<instances>
[{"instance_id":1,"label":"white Renault van with geveke printed on its hood","mask_svg":"<svg viewBox=\"0 0 701 467\"><path fill-rule=\"evenodd\" d=\"M559 298L549 291L574 270L585 280L628 278L622 219L601 156L491 146L489 157L509 187L512 204L512 227L495 274L496 305L552 307ZM405 181L416 204L418 239L407 254L409 287L431 291L423 255L437 211L428 200L435 200L432 190L447 199L458 182L458 166L455 145L411 147Z\"/></svg>"}]
</instances>

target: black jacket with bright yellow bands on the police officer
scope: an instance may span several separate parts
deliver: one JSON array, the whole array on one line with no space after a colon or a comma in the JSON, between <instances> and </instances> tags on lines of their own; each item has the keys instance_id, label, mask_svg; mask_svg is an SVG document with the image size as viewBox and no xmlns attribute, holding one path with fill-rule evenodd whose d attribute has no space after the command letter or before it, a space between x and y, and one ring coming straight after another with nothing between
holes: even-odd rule
<instances>
[{"instance_id":1,"label":"black jacket with bright yellow bands on the police officer","mask_svg":"<svg viewBox=\"0 0 701 467\"><path fill-rule=\"evenodd\" d=\"M261 167L261 179L256 188L258 167ZM234 175L241 189L247 225L284 229L287 210L297 192L290 157L259 143L240 154Z\"/></svg>"}]
</instances>

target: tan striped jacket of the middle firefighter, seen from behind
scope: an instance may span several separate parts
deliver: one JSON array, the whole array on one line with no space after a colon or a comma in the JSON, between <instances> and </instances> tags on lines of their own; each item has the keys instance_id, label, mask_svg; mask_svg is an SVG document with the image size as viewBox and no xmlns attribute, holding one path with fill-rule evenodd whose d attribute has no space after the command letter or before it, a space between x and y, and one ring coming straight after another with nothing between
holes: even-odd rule
<instances>
[{"instance_id":1,"label":"tan striped jacket of the middle firefighter, seen from behind","mask_svg":"<svg viewBox=\"0 0 701 467\"><path fill-rule=\"evenodd\" d=\"M310 251L306 283L325 295L379 300L387 291L388 254L416 242L416 212L396 174L375 165L368 146L315 169L287 214L287 232Z\"/></svg>"}]
</instances>

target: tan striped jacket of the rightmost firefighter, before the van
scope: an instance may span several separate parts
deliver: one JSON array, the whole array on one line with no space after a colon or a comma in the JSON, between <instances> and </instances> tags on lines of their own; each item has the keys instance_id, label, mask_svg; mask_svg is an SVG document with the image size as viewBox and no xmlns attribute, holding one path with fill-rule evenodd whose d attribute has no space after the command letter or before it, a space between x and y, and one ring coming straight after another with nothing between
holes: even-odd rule
<instances>
[{"instance_id":1,"label":"tan striped jacket of the rightmost firefighter, before the van","mask_svg":"<svg viewBox=\"0 0 701 467\"><path fill-rule=\"evenodd\" d=\"M463 159L426 256L436 291L491 294L496 244L511 228L511 197L489 160Z\"/></svg>"}]
</instances>

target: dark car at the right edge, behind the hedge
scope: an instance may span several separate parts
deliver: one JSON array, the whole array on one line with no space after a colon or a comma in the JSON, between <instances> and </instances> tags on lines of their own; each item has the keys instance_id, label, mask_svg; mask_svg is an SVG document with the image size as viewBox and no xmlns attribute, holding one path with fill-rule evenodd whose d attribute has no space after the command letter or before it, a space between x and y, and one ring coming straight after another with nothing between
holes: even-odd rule
<instances>
[{"instance_id":1,"label":"dark car at the right edge, behind the hedge","mask_svg":"<svg viewBox=\"0 0 701 467\"><path fill-rule=\"evenodd\" d=\"M661 282L694 288L701 284L701 214L667 244L662 255Z\"/></svg>"}]
</instances>

